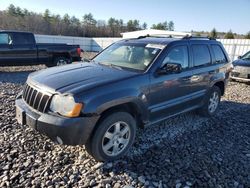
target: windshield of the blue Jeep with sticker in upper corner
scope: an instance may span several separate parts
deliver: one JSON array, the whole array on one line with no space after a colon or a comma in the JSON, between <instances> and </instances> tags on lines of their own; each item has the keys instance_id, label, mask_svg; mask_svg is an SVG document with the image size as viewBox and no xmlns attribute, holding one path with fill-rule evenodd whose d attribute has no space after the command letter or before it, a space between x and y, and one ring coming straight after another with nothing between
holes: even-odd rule
<instances>
[{"instance_id":1,"label":"windshield of the blue Jeep with sticker in upper corner","mask_svg":"<svg viewBox=\"0 0 250 188\"><path fill-rule=\"evenodd\" d=\"M158 44L116 43L93 60L104 65L145 71L163 47Z\"/></svg>"}]
</instances>

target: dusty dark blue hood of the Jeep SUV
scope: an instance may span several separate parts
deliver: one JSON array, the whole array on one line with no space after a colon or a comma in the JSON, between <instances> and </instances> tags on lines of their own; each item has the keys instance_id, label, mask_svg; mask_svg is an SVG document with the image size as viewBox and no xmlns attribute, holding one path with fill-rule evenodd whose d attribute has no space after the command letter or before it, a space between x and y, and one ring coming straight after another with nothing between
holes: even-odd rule
<instances>
[{"instance_id":1,"label":"dusty dark blue hood of the Jeep SUV","mask_svg":"<svg viewBox=\"0 0 250 188\"><path fill-rule=\"evenodd\" d=\"M138 73L98 65L77 63L53 67L29 75L28 83L50 92L72 93L132 77Z\"/></svg>"}]
</instances>

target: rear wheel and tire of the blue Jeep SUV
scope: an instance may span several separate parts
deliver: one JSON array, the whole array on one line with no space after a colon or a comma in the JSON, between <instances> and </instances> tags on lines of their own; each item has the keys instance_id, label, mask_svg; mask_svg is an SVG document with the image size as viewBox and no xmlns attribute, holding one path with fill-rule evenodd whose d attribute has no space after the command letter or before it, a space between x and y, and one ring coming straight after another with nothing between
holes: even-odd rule
<instances>
[{"instance_id":1,"label":"rear wheel and tire of the blue Jeep SUV","mask_svg":"<svg viewBox=\"0 0 250 188\"><path fill-rule=\"evenodd\" d=\"M213 86L204 99L204 104L198 109L198 113L205 117L211 117L218 111L221 99L221 90Z\"/></svg>"}]
</instances>

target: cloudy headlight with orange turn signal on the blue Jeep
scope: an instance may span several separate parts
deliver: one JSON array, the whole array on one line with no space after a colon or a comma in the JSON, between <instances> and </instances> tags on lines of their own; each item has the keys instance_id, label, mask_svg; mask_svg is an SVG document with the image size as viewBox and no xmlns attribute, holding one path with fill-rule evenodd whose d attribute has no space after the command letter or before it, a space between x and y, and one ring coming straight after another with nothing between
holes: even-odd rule
<instances>
[{"instance_id":1,"label":"cloudy headlight with orange turn signal on the blue Jeep","mask_svg":"<svg viewBox=\"0 0 250 188\"><path fill-rule=\"evenodd\" d=\"M83 104L76 103L70 96L54 95L50 103L50 110L66 117L77 117L80 115Z\"/></svg>"}]
</instances>

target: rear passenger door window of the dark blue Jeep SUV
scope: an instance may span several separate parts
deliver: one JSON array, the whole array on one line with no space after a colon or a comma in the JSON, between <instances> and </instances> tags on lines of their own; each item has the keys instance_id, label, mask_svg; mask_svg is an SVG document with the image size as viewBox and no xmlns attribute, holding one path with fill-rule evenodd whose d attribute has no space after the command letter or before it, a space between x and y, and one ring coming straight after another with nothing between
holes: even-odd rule
<instances>
[{"instance_id":1,"label":"rear passenger door window of the dark blue Jeep SUV","mask_svg":"<svg viewBox=\"0 0 250 188\"><path fill-rule=\"evenodd\" d=\"M194 66L204 66L211 63L207 45L192 45Z\"/></svg>"}]
</instances>

